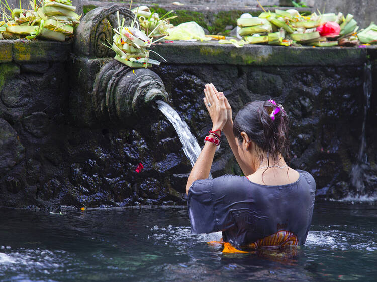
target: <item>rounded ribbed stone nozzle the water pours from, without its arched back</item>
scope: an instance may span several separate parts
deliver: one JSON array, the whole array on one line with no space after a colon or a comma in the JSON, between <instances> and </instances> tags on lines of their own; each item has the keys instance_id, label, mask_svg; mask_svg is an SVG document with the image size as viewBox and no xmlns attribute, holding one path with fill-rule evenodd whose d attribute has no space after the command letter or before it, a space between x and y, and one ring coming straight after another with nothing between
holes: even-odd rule
<instances>
[{"instance_id":1,"label":"rounded ribbed stone nozzle the water pours from, without its arched back","mask_svg":"<svg viewBox=\"0 0 377 282\"><path fill-rule=\"evenodd\" d=\"M135 73L134 73L135 72ZM134 69L113 60L104 65L93 84L93 108L99 121L125 121L155 100L167 100L161 78L150 69Z\"/></svg>"}]
</instances>

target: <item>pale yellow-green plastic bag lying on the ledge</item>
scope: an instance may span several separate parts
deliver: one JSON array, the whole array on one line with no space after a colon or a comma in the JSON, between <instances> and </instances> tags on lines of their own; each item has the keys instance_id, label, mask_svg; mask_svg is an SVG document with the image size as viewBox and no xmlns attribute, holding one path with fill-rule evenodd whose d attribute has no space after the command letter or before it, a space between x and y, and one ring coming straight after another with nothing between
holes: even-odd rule
<instances>
[{"instance_id":1,"label":"pale yellow-green plastic bag lying on the ledge","mask_svg":"<svg viewBox=\"0 0 377 282\"><path fill-rule=\"evenodd\" d=\"M204 35L203 28L196 22L187 22L177 25L167 30L169 35L165 37L167 40L189 40L199 39L200 41L211 40L210 37Z\"/></svg>"}]
</instances>

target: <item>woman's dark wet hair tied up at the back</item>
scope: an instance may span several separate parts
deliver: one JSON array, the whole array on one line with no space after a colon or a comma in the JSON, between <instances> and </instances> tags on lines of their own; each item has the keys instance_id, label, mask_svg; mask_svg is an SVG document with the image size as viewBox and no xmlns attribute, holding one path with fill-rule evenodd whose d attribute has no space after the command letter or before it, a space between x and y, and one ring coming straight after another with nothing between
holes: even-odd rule
<instances>
[{"instance_id":1,"label":"woman's dark wet hair tied up at the back","mask_svg":"<svg viewBox=\"0 0 377 282\"><path fill-rule=\"evenodd\" d=\"M275 114L275 119L272 120L270 114L277 107L280 107L281 110ZM242 143L243 140L242 131L261 149L259 151L260 160L263 157L267 157L267 159L273 157L274 164L281 157L289 160L289 118L281 105L274 105L270 100L245 104L233 122L233 133L239 143ZM263 152L267 156L263 156Z\"/></svg>"}]
</instances>

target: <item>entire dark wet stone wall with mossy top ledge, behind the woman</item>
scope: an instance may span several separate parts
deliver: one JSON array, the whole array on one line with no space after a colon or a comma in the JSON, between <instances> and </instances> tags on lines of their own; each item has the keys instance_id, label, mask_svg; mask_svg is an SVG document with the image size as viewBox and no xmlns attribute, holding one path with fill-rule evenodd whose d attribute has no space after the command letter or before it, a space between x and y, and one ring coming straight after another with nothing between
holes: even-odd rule
<instances>
[{"instance_id":1,"label":"entire dark wet stone wall with mossy top ledge, behind the woman","mask_svg":"<svg viewBox=\"0 0 377 282\"><path fill-rule=\"evenodd\" d=\"M1 206L185 203L191 166L159 111L136 113L133 122L93 120L92 83L109 58L69 55L70 42L0 44ZM375 49L165 43L154 50L168 62L153 70L201 146L211 126L202 100L205 83L224 91L234 113L248 101L273 98L291 117L292 166L311 172L320 194L339 198L352 191L363 69L368 57L375 62ZM373 70L365 193L375 191L377 172L375 65ZM139 163L144 168L137 173ZM212 173L241 173L224 137Z\"/></svg>"}]
</instances>

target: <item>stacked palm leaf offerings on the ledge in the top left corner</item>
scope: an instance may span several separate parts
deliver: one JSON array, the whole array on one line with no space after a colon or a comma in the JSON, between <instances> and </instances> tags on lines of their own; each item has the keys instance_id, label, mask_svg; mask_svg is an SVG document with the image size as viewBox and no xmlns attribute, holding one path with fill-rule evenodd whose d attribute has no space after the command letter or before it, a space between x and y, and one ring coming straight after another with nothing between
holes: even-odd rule
<instances>
[{"instance_id":1,"label":"stacked palm leaf offerings on the ledge in the top left corner","mask_svg":"<svg viewBox=\"0 0 377 282\"><path fill-rule=\"evenodd\" d=\"M4 1L4 2L3 2ZM3 21L0 22L0 35L5 39L26 37L65 41L73 36L74 28L80 23L71 0L43 0L37 4L30 1L32 9L11 9L7 0L0 0ZM11 12L10 15L6 12Z\"/></svg>"}]
</instances>

